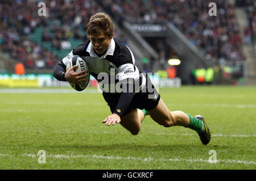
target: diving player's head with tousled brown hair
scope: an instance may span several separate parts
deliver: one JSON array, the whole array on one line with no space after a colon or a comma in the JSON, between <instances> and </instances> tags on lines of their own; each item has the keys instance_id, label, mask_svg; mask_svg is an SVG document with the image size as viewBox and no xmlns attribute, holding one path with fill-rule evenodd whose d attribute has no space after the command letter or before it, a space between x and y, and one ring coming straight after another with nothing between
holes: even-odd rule
<instances>
[{"instance_id":1,"label":"diving player's head with tousled brown hair","mask_svg":"<svg viewBox=\"0 0 256 181\"><path fill-rule=\"evenodd\" d=\"M103 54L108 49L114 35L112 20L103 12L90 17L87 24L87 36L98 54Z\"/></svg>"}]
</instances>

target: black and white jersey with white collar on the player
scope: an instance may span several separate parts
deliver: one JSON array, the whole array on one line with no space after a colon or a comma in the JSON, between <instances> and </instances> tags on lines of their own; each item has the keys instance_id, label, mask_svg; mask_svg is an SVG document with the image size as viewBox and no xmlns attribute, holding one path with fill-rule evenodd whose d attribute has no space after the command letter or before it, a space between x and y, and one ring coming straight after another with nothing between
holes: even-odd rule
<instances>
[{"instance_id":1,"label":"black and white jersey with white collar on the player","mask_svg":"<svg viewBox=\"0 0 256 181\"><path fill-rule=\"evenodd\" d=\"M97 79L102 91L113 93L113 87L120 87L117 84L125 80L133 81L137 85L135 92L142 90L146 85L146 78L135 66L130 48L114 39L110 41L108 49L101 57L96 54L92 43L88 40L75 47L61 60L61 64L67 66L69 59L74 55L86 61L90 74ZM121 91L115 88L114 92Z\"/></svg>"}]
</instances>

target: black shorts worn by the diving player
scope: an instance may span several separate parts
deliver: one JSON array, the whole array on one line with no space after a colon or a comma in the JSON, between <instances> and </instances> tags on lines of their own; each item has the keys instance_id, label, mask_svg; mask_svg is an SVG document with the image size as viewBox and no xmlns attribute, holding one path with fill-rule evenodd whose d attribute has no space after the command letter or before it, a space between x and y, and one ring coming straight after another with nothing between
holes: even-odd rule
<instances>
[{"instance_id":1,"label":"black shorts worn by the diving player","mask_svg":"<svg viewBox=\"0 0 256 181\"><path fill-rule=\"evenodd\" d=\"M127 109L127 111L123 116L127 115L127 113L129 113L131 110L135 110L137 108L139 108L140 110L145 109L148 111L158 106L158 102L160 100L160 94L155 89L154 85L152 85L150 78L146 76L146 79L148 79L146 86L142 91L134 94L133 100L131 101L129 108ZM152 85L150 89L147 89L148 83ZM117 107L119 96L121 94L122 93L109 93L109 92L102 93L112 113Z\"/></svg>"}]
</instances>

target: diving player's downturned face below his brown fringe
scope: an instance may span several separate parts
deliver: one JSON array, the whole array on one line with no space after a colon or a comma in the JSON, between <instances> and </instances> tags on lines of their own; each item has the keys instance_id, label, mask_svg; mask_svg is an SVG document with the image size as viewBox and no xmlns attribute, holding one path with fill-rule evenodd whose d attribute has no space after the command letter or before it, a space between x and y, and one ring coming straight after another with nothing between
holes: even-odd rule
<instances>
[{"instance_id":1,"label":"diving player's downturned face below his brown fringe","mask_svg":"<svg viewBox=\"0 0 256 181\"><path fill-rule=\"evenodd\" d=\"M98 54L103 54L108 49L112 37L105 35L103 31L91 33L90 42L92 42L93 48Z\"/></svg>"}]
</instances>

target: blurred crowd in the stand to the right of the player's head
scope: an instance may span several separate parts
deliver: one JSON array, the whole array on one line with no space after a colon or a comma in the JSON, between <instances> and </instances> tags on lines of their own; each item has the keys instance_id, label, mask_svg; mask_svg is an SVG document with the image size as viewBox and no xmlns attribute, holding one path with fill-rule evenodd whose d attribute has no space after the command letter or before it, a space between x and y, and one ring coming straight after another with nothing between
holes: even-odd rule
<instances>
[{"instance_id":1,"label":"blurred crowd in the stand to the right of the player's head","mask_svg":"<svg viewBox=\"0 0 256 181\"><path fill-rule=\"evenodd\" d=\"M211 2L208 0L98 1L112 14L118 14L130 23L173 23L193 45L213 61L245 60L235 6L230 1L214 1L217 5L217 16L208 14Z\"/></svg>"}]
</instances>

